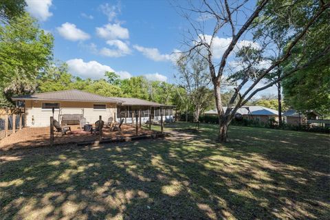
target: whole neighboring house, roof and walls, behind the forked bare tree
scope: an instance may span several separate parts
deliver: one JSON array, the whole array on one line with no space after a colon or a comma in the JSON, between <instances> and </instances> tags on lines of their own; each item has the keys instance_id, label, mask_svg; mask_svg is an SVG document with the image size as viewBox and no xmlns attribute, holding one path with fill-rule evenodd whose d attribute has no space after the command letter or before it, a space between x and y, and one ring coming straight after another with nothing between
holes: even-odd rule
<instances>
[{"instance_id":1,"label":"whole neighboring house, roof and walls, behind the forked bare tree","mask_svg":"<svg viewBox=\"0 0 330 220\"><path fill-rule=\"evenodd\" d=\"M223 107L223 111L226 111L227 107ZM259 122L268 122L271 118L278 120L278 111L269 109L259 105L256 106L243 106L239 108L236 113L243 115L243 118L256 120ZM205 112L206 115L217 115L217 109Z\"/></svg>"}]
</instances>

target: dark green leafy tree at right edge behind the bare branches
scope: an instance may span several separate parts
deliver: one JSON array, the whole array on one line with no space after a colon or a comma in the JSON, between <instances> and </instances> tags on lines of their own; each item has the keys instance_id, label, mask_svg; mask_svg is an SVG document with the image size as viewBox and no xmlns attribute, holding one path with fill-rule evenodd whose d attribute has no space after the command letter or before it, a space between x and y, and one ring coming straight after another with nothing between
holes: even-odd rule
<instances>
[{"instance_id":1,"label":"dark green leafy tree at right edge behind the bare branches","mask_svg":"<svg viewBox=\"0 0 330 220\"><path fill-rule=\"evenodd\" d=\"M329 1L328 1L329 3ZM309 3L311 6L311 3ZM307 17L306 12L300 16ZM303 23L298 23L298 27ZM329 50L329 13L322 14L306 34L304 41L298 43L294 52L298 56L292 57L285 65L289 71L296 63L313 59L315 54L328 48ZM299 111L316 110L325 115L330 114L330 55L325 54L304 69L299 69L296 74L283 80L284 99L292 108Z\"/></svg>"}]
</instances>

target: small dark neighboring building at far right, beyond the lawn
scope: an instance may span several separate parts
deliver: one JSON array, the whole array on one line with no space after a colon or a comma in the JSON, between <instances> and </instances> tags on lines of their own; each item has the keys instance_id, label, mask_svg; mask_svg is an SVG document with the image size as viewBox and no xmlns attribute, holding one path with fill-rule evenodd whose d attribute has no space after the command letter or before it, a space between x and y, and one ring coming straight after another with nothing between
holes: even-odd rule
<instances>
[{"instance_id":1,"label":"small dark neighboring building at far right, beyond the lawn","mask_svg":"<svg viewBox=\"0 0 330 220\"><path fill-rule=\"evenodd\" d=\"M322 118L322 115L316 111L301 113L300 111L289 109L283 113L283 117L285 118L285 122L287 124L299 125L307 124L308 120L318 120Z\"/></svg>"}]
</instances>

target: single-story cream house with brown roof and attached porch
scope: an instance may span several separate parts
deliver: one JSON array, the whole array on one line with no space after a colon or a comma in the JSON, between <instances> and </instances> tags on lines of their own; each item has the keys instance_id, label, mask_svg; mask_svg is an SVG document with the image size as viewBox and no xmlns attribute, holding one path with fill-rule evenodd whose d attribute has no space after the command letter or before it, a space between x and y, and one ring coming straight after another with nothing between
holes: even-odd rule
<instances>
[{"instance_id":1,"label":"single-story cream house with brown roof and attached porch","mask_svg":"<svg viewBox=\"0 0 330 220\"><path fill-rule=\"evenodd\" d=\"M139 110L141 110L141 121L146 122L149 112L153 119L159 120L160 108L164 109L163 120L173 119L173 107L164 104L138 98L100 96L77 89L16 96L12 100L23 103L25 107L25 126L49 126L53 107L54 119L60 122L63 120L63 115L66 115L66 118L67 115L80 115L86 118L87 122L94 123L101 115L105 122L112 117L116 121L125 118L126 123L131 123L132 120L135 121L135 112Z\"/></svg>"}]
</instances>

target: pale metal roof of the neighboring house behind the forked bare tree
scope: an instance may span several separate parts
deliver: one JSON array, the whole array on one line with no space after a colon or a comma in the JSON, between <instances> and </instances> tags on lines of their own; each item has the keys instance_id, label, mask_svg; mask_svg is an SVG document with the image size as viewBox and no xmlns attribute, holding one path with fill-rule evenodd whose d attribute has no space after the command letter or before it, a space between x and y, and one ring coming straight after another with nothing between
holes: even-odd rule
<instances>
[{"instance_id":1,"label":"pale metal roof of the neighboring house behind the forked bare tree","mask_svg":"<svg viewBox=\"0 0 330 220\"><path fill-rule=\"evenodd\" d=\"M278 115L278 111L274 110L274 109L269 109L266 107L262 107L259 105L254 105L254 106L243 106L239 109L237 109L236 113L241 113L242 115L248 115L249 110L251 112L252 115ZM223 107L223 111L226 111L227 107ZM210 111L206 111L206 114L217 114L218 111L217 109L214 110L210 110Z\"/></svg>"}]
</instances>

